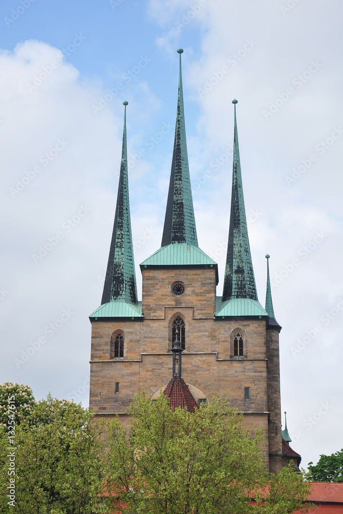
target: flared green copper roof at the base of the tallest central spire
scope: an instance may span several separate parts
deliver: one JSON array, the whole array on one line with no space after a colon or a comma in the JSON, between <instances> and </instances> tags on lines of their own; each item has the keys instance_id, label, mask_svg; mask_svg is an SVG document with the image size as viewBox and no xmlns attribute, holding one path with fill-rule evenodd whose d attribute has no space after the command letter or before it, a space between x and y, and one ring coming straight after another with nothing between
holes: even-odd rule
<instances>
[{"instance_id":1,"label":"flared green copper roof at the base of the tallest central spire","mask_svg":"<svg viewBox=\"0 0 343 514\"><path fill-rule=\"evenodd\" d=\"M141 269L150 266L197 266L215 268L218 274L217 263L198 246L187 243L173 243L164 246L143 261L140 266Z\"/></svg>"}]
</instances>

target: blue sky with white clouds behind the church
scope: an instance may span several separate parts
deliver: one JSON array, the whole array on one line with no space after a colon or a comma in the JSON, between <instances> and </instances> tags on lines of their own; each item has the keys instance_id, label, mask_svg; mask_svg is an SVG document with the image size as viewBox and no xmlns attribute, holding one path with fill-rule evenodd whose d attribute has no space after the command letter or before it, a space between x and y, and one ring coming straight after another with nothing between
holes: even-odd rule
<instances>
[{"instance_id":1,"label":"blue sky with white clouds behind the church","mask_svg":"<svg viewBox=\"0 0 343 514\"><path fill-rule=\"evenodd\" d=\"M2 382L88 405L88 316L108 258L122 102L141 298L139 264L161 244L182 47L198 239L219 265L217 295L237 98L259 301L268 252L283 327L291 446L304 467L342 448L342 15L338 0L1 4Z\"/></svg>"}]
</instances>

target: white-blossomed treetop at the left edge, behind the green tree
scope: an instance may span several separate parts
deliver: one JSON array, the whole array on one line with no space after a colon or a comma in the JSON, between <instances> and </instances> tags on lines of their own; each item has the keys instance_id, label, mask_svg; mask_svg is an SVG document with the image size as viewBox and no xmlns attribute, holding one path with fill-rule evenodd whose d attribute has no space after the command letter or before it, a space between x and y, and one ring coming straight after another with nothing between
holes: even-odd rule
<instances>
[{"instance_id":1,"label":"white-blossomed treetop at the left edge, behind the green tree","mask_svg":"<svg viewBox=\"0 0 343 514\"><path fill-rule=\"evenodd\" d=\"M14 401L16 425L18 425L23 416L27 417L30 415L35 405L32 389L17 382L0 384L0 424L3 425L7 425L8 421L9 398Z\"/></svg>"}]
</instances>

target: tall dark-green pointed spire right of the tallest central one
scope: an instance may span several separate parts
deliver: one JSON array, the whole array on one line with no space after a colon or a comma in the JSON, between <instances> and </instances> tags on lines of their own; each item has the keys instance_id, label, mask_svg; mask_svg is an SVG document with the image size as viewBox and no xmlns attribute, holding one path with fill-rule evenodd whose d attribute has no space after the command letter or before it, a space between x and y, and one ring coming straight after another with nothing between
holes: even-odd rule
<instances>
[{"instance_id":1,"label":"tall dark-green pointed spire right of the tallest central one","mask_svg":"<svg viewBox=\"0 0 343 514\"><path fill-rule=\"evenodd\" d=\"M234 162L223 302L232 298L258 300L244 208L236 121L237 100L232 103L235 105Z\"/></svg>"}]
</instances>

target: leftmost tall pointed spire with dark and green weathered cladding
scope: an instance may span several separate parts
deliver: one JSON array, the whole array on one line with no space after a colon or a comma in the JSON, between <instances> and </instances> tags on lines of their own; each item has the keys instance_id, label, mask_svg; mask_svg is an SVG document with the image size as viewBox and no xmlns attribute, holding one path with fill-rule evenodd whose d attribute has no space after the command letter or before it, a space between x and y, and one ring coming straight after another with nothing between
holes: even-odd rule
<instances>
[{"instance_id":1,"label":"leftmost tall pointed spire with dark and green weathered cladding","mask_svg":"<svg viewBox=\"0 0 343 514\"><path fill-rule=\"evenodd\" d=\"M131 219L127 178L126 151L126 105L124 107L124 130L122 158L118 186L115 224L113 226L111 246L105 277L104 292L101 304L111 301L137 304L137 287L132 249Z\"/></svg>"}]
</instances>

